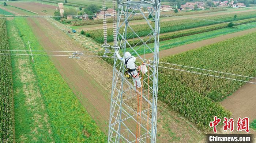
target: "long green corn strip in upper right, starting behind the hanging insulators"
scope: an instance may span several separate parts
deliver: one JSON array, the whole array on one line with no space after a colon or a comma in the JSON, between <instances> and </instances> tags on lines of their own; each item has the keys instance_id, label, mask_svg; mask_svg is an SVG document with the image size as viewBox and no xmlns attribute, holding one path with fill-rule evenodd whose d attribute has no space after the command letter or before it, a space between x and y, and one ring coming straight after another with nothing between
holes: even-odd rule
<instances>
[{"instance_id":1,"label":"long green corn strip in upper right, starting behind the hanging insulators","mask_svg":"<svg viewBox=\"0 0 256 143\"><path fill-rule=\"evenodd\" d=\"M253 17L256 17L256 11L253 12L243 12L237 14L239 15L238 20L243 19L250 19ZM202 21L199 19L207 19L208 21ZM221 16L209 16L209 17L200 17L199 19L182 19L182 20L176 20L176 21L164 21L160 22L161 28L160 33L167 33L167 32L174 32L179 30L185 30L190 28L196 28L196 27L202 27L212 24L218 24L218 21L233 21L234 20L234 14L229 15L221 15ZM214 21L216 20L216 21ZM154 28L154 24L151 24L151 26ZM131 28L137 32L138 36L143 37L148 35L150 32L152 32L151 28L147 24L140 24L140 25L131 25ZM120 31L123 31L124 27L120 28ZM113 29L108 28L107 31L108 34L108 42L113 41ZM103 43L103 29L94 29L86 31L87 37L92 37L95 41L98 43ZM131 29L127 29L127 37L132 39L133 37L137 37L136 35L133 35L133 32Z\"/></svg>"}]
</instances>

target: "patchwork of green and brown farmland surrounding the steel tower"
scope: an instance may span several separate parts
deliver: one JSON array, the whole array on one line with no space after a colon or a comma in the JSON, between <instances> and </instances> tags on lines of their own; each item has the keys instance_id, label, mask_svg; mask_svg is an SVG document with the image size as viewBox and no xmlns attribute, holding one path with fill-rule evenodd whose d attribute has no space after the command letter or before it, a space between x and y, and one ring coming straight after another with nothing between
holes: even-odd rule
<instances>
[{"instance_id":1,"label":"patchwork of green and brown farmland surrounding the steel tower","mask_svg":"<svg viewBox=\"0 0 256 143\"><path fill-rule=\"evenodd\" d=\"M8 15L52 15L54 3L63 2L42 1L45 6L36 3L37 0L22 0L8 1L9 6L0 5L0 8ZM112 5L111 1L107 2ZM87 7L91 1L68 0L67 4L65 7L75 8L80 4ZM96 0L95 4L102 3ZM248 116L250 134L255 134L256 105L253 101L256 100L256 84L231 80L256 82L255 79L173 64L256 77L256 11L253 8L228 8L173 14L177 17L161 17L160 20L159 61L164 63L159 63L158 73L157 142L204 142L204 135L212 133L209 122L214 116L221 119ZM112 26L111 22L109 19L108 26ZM131 28L147 40L146 35L151 30L143 20L130 22ZM229 22L234 26L229 27ZM5 107L0 111L0 119L4 120L5 126L0 126L0 133L5 132L0 134L0 142L1 139L17 143L107 142L110 93L118 90L112 88L113 53L108 53L109 57L101 57L105 51L101 47L103 31L98 28L102 27L99 24L102 20L82 23L87 25L74 27L50 17L11 17L6 21L0 18L0 49L29 50L29 41L31 49L35 50L31 54L42 54L34 55L32 61L30 51L0 51L27 54L0 55L0 104ZM154 22L150 21L150 24L154 28ZM83 27L86 27L85 35L71 31L72 28ZM131 30L128 30L128 37L131 45L139 42ZM108 28L108 41L113 45L112 28ZM147 44L154 47L153 40ZM150 53L147 47L139 46L135 48L141 57L148 59L152 56L146 54ZM128 44L125 50L135 55ZM71 59L75 57L70 56L74 51L83 51L84 55L80 59ZM138 62L140 59L137 58ZM132 84L131 79L126 80ZM125 94L137 98L135 93L131 90ZM137 99L129 101L127 105L137 107ZM133 127L133 124L128 123L128 126ZM244 134L234 131L234 134L240 133Z\"/></svg>"}]
</instances>

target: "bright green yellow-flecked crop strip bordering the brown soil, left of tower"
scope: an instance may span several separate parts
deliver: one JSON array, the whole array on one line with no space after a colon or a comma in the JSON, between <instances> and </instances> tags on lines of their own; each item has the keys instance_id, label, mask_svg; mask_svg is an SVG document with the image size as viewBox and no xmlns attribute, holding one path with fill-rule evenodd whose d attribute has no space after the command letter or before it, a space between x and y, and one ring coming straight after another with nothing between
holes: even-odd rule
<instances>
[{"instance_id":1,"label":"bright green yellow-flecked crop strip bordering the brown soil, left of tower","mask_svg":"<svg viewBox=\"0 0 256 143\"><path fill-rule=\"evenodd\" d=\"M16 18L20 35L28 47L44 50L25 19ZM107 142L106 136L86 112L48 56L34 56L33 70L42 95L56 142Z\"/></svg>"}]
</instances>

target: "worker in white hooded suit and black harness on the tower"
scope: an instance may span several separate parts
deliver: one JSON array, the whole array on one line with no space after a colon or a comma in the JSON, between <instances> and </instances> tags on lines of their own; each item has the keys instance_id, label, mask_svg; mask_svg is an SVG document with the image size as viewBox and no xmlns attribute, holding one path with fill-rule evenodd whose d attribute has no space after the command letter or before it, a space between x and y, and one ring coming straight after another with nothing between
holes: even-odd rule
<instances>
[{"instance_id":1,"label":"worker in white hooded suit and black harness on the tower","mask_svg":"<svg viewBox=\"0 0 256 143\"><path fill-rule=\"evenodd\" d=\"M128 74L132 76L134 86L136 88L141 88L138 67L136 67L135 65L136 57L132 56L130 52L125 52L124 58L119 55L118 51L116 51L115 53L117 58L124 62L125 67L128 69Z\"/></svg>"}]
</instances>

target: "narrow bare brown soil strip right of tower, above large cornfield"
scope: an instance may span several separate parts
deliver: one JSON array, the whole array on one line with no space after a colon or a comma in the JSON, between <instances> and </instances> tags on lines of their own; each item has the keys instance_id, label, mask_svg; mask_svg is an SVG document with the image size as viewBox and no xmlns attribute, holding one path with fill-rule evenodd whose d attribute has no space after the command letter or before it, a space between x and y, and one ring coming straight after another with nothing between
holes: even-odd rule
<instances>
[{"instance_id":1,"label":"narrow bare brown soil strip right of tower, above large cornfield","mask_svg":"<svg viewBox=\"0 0 256 143\"><path fill-rule=\"evenodd\" d=\"M181 52L186 52L189 51L191 49L196 49L205 45L209 45L209 44L214 44L217 43L219 41L223 41L226 39L230 39L233 37L237 37L237 36L242 36L248 33L252 33L252 32L256 32L256 28L252 28L252 29L248 29L248 30L244 30L244 31L240 31L240 32L236 32L236 33L230 33L227 35L222 35L219 37L215 37L212 39L207 39L207 40L202 40L202 41L197 41L191 44L186 44L186 45L181 45L175 48L170 48L170 49L165 49L159 52L159 57L165 57L165 56L170 56L170 55L175 55ZM153 56L153 54L149 53L146 54L145 57L146 59L150 59L150 57Z\"/></svg>"}]
</instances>

